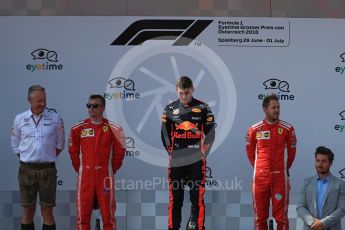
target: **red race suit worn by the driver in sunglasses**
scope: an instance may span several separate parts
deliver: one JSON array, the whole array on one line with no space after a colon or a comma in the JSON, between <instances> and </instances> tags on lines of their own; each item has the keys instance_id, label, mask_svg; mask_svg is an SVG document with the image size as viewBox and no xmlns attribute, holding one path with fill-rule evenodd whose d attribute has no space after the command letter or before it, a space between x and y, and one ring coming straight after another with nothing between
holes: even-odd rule
<instances>
[{"instance_id":1,"label":"red race suit worn by the driver in sunglasses","mask_svg":"<svg viewBox=\"0 0 345 230\"><path fill-rule=\"evenodd\" d=\"M122 128L107 119L93 124L86 119L74 125L69 139L69 153L77 180L77 229L89 230L97 199L103 229L116 229L114 174L125 155Z\"/></svg>"}]
</instances>

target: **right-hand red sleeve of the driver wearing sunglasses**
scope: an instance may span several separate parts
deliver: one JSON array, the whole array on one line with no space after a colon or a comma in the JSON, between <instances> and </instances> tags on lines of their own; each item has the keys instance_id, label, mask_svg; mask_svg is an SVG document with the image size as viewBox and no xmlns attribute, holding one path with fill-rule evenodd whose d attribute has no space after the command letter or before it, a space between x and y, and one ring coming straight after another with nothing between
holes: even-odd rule
<instances>
[{"instance_id":1,"label":"right-hand red sleeve of the driver wearing sunglasses","mask_svg":"<svg viewBox=\"0 0 345 230\"><path fill-rule=\"evenodd\" d=\"M126 148L125 148L125 136L123 134L121 127L112 127L114 134L113 142L113 158L112 158L112 168L113 173L115 174L117 170L121 168L123 158L125 157Z\"/></svg>"}]
</instances>

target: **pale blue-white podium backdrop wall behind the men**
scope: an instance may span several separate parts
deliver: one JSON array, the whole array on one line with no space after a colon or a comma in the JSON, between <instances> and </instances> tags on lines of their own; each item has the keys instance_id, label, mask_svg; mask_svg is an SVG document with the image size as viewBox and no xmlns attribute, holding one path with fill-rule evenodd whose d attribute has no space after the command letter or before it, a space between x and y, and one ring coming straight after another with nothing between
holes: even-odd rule
<instances>
[{"instance_id":1,"label":"pale blue-white podium backdrop wall behind the men","mask_svg":"<svg viewBox=\"0 0 345 230\"><path fill-rule=\"evenodd\" d=\"M132 23L153 19L159 26L135 24L128 42L152 34L160 39L111 45ZM196 32L197 20L211 21ZM18 190L10 130L14 116L28 109L26 94L32 84L46 87L48 107L65 121L66 140L70 127L87 117L88 96L106 96L107 117L122 125L127 136L127 156L117 175L127 184L166 178L160 115L176 99L174 84L180 75L194 80L195 97L211 105L218 123L208 158L211 189L250 190L245 134L263 118L261 99L270 93L281 97L281 118L296 129L292 190L314 174L318 145L335 152L336 176L345 168L344 20L0 17L0 30L0 190ZM188 34L198 36L188 45L174 45ZM67 146L57 164L58 189L75 189ZM239 186L231 186L236 181Z\"/></svg>"}]
</instances>

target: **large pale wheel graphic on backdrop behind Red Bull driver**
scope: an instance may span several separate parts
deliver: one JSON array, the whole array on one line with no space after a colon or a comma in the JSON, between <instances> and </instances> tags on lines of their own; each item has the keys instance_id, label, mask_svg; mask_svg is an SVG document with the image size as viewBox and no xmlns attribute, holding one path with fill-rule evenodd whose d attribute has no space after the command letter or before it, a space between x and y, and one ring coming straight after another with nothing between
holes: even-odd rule
<instances>
[{"instance_id":1,"label":"large pale wheel graphic on backdrop behind Red Bull driver","mask_svg":"<svg viewBox=\"0 0 345 230\"><path fill-rule=\"evenodd\" d=\"M236 89L222 59L206 45L172 46L171 41L147 41L125 53L106 86L107 117L135 140L137 157L167 166L160 125L164 106L177 99L176 79L189 76L194 97L208 103L216 117L212 154L231 130L236 113Z\"/></svg>"}]
</instances>

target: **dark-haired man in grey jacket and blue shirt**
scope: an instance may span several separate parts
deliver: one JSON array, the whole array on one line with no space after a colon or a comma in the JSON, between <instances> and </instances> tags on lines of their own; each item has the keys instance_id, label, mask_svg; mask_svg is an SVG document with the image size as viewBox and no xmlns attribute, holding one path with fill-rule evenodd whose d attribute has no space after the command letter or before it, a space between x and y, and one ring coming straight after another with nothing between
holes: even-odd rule
<instances>
[{"instance_id":1,"label":"dark-haired man in grey jacket and blue shirt","mask_svg":"<svg viewBox=\"0 0 345 230\"><path fill-rule=\"evenodd\" d=\"M345 182L333 176L333 152L323 146L316 149L317 174L306 178L297 201L297 214L304 222L304 230L341 230L345 216Z\"/></svg>"}]
</instances>

